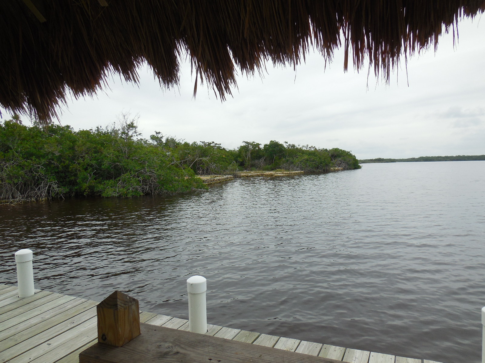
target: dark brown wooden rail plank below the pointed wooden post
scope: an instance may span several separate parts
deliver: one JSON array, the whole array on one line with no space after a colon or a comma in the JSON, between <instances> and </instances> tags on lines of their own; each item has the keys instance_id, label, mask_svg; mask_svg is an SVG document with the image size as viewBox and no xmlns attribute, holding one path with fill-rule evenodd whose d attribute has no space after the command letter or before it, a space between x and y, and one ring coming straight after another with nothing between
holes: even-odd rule
<instances>
[{"instance_id":1,"label":"dark brown wooden rail plank below the pointed wooden post","mask_svg":"<svg viewBox=\"0 0 485 363\"><path fill-rule=\"evenodd\" d=\"M141 324L142 334L121 348L95 344L81 352L80 363L338 363L328 358L267 348L215 336Z\"/></svg>"}]
</instances>

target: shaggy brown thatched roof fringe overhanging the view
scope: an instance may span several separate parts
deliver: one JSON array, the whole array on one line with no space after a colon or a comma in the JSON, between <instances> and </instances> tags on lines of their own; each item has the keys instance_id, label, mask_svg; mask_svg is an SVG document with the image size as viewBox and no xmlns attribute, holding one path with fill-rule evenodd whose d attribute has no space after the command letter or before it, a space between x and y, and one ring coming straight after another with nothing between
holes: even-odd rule
<instances>
[{"instance_id":1,"label":"shaggy brown thatched roof fringe overhanging the view","mask_svg":"<svg viewBox=\"0 0 485 363\"><path fill-rule=\"evenodd\" d=\"M485 0L4 0L0 104L48 122L70 92L93 95L113 74L137 82L145 61L176 86L186 54L221 99L238 71L294 66L311 46L327 60L343 48L345 68L369 62L388 79L400 57L436 47L443 26L484 10Z\"/></svg>"}]
</instances>

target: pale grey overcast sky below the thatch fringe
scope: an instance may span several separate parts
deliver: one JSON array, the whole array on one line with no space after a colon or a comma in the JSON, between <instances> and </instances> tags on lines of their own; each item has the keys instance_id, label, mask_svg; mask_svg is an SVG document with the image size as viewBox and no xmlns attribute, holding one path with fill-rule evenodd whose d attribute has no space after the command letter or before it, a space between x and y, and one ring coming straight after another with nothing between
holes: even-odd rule
<instances>
[{"instance_id":1,"label":"pale grey overcast sky below the thatch fringe","mask_svg":"<svg viewBox=\"0 0 485 363\"><path fill-rule=\"evenodd\" d=\"M485 24L459 24L459 42L440 38L408 61L390 84L367 70L343 72L343 51L324 70L311 54L296 72L267 66L263 79L239 77L233 97L221 103L206 85L192 97L194 77L182 66L180 87L163 91L147 69L139 87L119 79L97 98L73 100L61 123L75 130L105 126L121 111L140 114L143 136L154 131L186 141L288 141L339 147L358 159L485 154ZM408 86L409 83L409 86ZM368 86L369 85L369 86ZM28 124L28 122L25 122Z\"/></svg>"}]
</instances>

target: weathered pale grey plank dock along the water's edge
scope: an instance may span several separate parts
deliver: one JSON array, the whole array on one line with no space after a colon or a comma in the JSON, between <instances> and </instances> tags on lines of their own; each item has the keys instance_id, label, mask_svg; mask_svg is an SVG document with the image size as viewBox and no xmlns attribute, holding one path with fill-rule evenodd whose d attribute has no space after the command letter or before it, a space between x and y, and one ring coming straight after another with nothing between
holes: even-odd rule
<instances>
[{"instance_id":1,"label":"weathered pale grey plank dock along the water's edge","mask_svg":"<svg viewBox=\"0 0 485 363\"><path fill-rule=\"evenodd\" d=\"M19 299L16 286L0 285L0 363L79 363L79 353L97 342L98 302L45 290ZM189 322L140 312L140 321L187 331ZM438 363L365 350L209 325L207 334L265 347L351 363Z\"/></svg>"}]
</instances>

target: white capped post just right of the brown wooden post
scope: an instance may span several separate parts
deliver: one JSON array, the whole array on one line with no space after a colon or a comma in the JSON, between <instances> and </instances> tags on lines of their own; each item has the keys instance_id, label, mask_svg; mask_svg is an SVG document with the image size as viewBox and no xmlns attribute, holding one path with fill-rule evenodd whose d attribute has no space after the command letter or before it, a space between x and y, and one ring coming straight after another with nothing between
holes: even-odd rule
<instances>
[{"instance_id":1,"label":"white capped post just right of the brown wooden post","mask_svg":"<svg viewBox=\"0 0 485 363\"><path fill-rule=\"evenodd\" d=\"M205 277L195 275L187 279L189 331L194 333L207 333L206 291L207 280Z\"/></svg>"}]
</instances>

